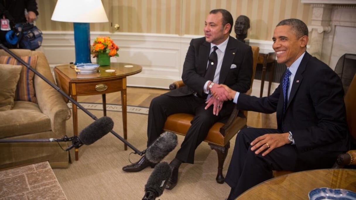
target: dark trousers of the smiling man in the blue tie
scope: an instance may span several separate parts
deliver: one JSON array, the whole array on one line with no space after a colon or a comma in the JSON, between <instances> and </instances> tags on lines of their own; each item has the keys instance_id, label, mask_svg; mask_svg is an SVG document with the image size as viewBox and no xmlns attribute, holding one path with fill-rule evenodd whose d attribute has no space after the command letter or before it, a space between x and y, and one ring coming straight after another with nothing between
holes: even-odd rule
<instances>
[{"instance_id":1,"label":"dark trousers of the smiling man in the blue tie","mask_svg":"<svg viewBox=\"0 0 356 200\"><path fill-rule=\"evenodd\" d=\"M244 128L236 136L225 182L231 187L230 198L237 196L253 186L272 178L272 170L294 170L297 160L295 145L284 145L273 149L266 156L251 151L250 143L266 133L282 133L277 129Z\"/></svg>"}]
</instances>

